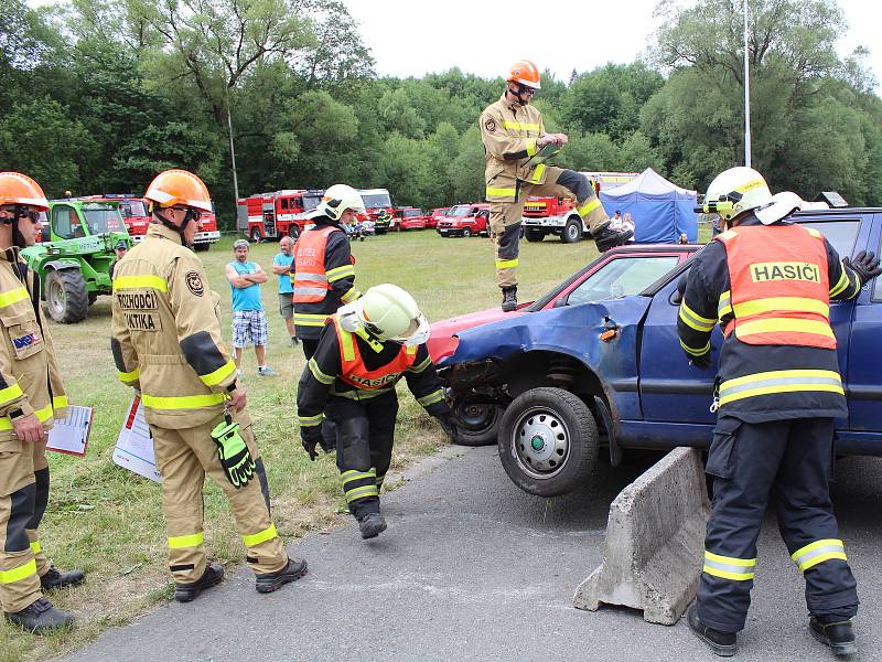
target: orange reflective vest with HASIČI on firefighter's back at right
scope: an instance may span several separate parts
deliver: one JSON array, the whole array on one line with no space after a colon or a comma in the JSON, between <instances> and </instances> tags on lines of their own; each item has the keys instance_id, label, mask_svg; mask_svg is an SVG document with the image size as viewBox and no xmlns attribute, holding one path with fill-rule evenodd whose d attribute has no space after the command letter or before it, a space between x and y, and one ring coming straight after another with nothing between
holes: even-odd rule
<instances>
[{"instance_id":1,"label":"orange reflective vest with HASI\u010cI on firefighter's back at right","mask_svg":"<svg viewBox=\"0 0 882 662\"><path fill-rule=\"evenodd\" d=\"M836 349L830 328L824 236L799 225L746 226L714 237L725 246L732 289L720 295L718 317L733 316L734 332L755 345Z\"/></svg>"}]
</instances>

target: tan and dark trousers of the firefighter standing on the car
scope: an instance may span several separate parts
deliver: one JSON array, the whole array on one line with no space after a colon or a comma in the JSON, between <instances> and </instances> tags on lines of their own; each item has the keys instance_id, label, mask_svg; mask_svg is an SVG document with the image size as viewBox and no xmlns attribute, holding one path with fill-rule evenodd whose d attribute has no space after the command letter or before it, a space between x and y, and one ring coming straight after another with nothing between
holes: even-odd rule
<instances>
[{"instance_id":1,"label":"tan and dark trousers of the firefighter standing on the car","mask_svg":"<svg viewBox=\"0 0 882 662\"><path fill-rule=\"evenodd\" d=\"M572 171L549 166L546 169L546 180L541 184L519 182L517 202L492 202L490 204L490 232L493 246L496 250L496 285L512 287L517 285L517 266L520 243L520 222L524 216L524 200L529 195L544 195L555 197L571 197L577 200L577 212L590 231L599 223L606 221L606 212L600 200L588 184L579 181L574 185L577 191L558 183L562 173L567 172L572 179ZM584 177L584 175L582 175ZM567 179L567 178L564 178ZM569 180L567 180L569 183ZM571 184L572 185L572 184ZM579 194L583 200L579 200Z\"/></svg>"}]
</instances>

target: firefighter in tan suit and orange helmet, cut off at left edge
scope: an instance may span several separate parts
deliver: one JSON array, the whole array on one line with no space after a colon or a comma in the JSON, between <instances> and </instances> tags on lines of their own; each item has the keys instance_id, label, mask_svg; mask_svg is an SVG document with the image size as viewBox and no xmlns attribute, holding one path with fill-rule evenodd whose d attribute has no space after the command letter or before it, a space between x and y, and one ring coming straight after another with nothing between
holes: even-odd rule
<instances>
[{"instance_id":1,"label":"firefighter in tan suit and orange helmet, cut off at left edge","mask_svg":"<svg viewBox=\"0 0 882 662\"><path fill-rule=\"evenodd\" d=\"M49 502L46 434L67 415L40 280L19 257L36 241L43 190L18 172L0 173L0 602L7 620L37 634L73 623L42 596L75 586L82 570L58 572L37 536Z\"/></svg>"}]
</instances>

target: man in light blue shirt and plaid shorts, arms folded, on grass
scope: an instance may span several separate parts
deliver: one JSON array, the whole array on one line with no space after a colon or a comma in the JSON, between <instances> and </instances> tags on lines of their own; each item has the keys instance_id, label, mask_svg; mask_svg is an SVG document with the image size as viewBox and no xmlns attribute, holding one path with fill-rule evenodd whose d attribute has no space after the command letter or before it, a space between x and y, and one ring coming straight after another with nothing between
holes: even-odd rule
<instances>
[{"instance_id":1,"label":"man in light blue shirt and plaid shorts, arms folded, on grass","mask_svg":"<svg viewBox=\"0 0 882 662\"><path fill-rule=\"evenodd\" d=\"M248 340L255 344L257 372L271 376L276 371L267 365L267 318L260 299L260 284L267 281L267 274L257 263L248 261L249 244L237 239L233 244L236 259L227 265L227 280L233 289L233 350L236 369L241 376L241 351Z\"/></svg>"}]
</instances>

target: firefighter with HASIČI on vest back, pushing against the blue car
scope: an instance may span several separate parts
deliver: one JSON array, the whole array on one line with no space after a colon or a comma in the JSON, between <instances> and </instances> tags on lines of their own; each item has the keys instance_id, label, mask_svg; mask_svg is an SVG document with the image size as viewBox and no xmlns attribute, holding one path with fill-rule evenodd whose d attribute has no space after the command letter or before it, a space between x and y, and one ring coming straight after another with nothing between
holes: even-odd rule
<instances>
[{"instance_id":1,"label":"firefighter with HASI\u010cI on vest back, pushing against the blue car","mask_svg":"<svg viewBox=\"0 0 882 662\"><path fill-rule=\"evenodd\" d=\"M719 174L703 211L729 228L696 257L680 305L680 344L695 365L710 366L718 320L724 338L707 465L712 514L688 613L719 655L735 653L744 628L770 495L805 577L811 634L837 654L854 650L858 595L828 487L833 418L848 416L829 300L853 299L881 270L872 253L840 261L819 232L788 220L800 202L773 197L750 168Z\"/></svg>"}]
</instances>

